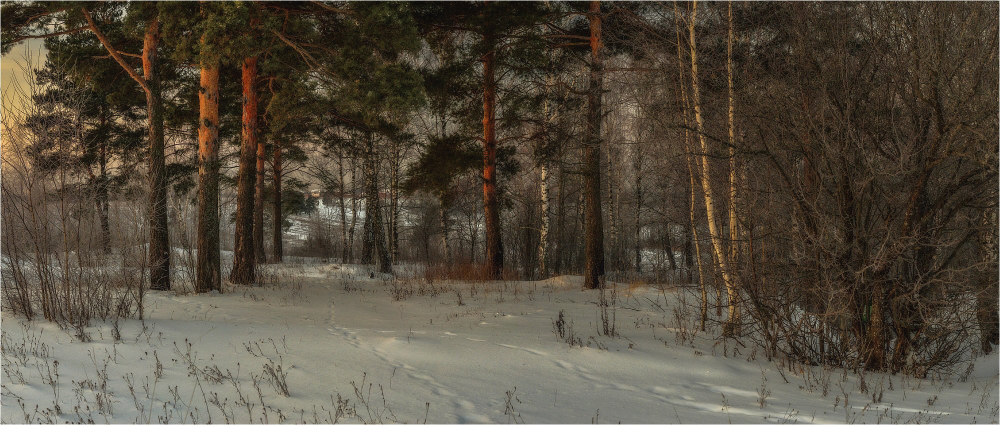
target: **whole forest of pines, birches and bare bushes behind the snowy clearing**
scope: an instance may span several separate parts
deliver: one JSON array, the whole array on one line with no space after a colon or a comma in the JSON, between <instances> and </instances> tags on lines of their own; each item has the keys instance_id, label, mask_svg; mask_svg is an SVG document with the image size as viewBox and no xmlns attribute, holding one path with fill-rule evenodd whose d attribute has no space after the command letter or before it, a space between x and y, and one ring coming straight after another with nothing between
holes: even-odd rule
<instances>
[{"instance_id":1,"label":"whole forest of pines, birches and bare bushes behind the snowy clearing","mask_svg":"<svg viewBox=\"0 0 1000 425\"><path fill-rule=\"evenodd\" d=\"M4 244L5 291L11 276L24 292L5 302L28 315L25 288L48 280L27 258L125 255L135 233L115 229L138 226L133 280L152 289L170 269L197 291L255 284L257 264L288 256L416 262L588 288L641 277L692 291L702 328L808 363L923 374L997 343L996 4L2 14L5 52L47 38L49 58L34 101L51 106L4 122L19 129L4 135L5 238L47 238ZM37 173L65 176L44 190L93 244L10 218L52 199L24 195Z\"/></svg>"}]
</instances>

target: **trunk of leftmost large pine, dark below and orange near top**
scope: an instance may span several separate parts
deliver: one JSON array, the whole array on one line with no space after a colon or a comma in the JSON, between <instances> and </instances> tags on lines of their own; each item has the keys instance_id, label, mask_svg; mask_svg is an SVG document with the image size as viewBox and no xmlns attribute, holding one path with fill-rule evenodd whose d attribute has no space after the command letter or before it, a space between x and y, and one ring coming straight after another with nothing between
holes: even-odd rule
<instances>
[{"instance_id":1,"label":"trunk of leftmost large pine, dark below and orange near top","mask_svg":"<svg viewBox=\"0 0 1000 425\"><path fill-rule=\"evenodd\" d=\"M142 42L142 72L146 80L149 120L149 289L170 290L170 233L167 221L167 163L163 149L163 98L157 75L159 21L153 18Z\"/></svg>"}]
</instances>

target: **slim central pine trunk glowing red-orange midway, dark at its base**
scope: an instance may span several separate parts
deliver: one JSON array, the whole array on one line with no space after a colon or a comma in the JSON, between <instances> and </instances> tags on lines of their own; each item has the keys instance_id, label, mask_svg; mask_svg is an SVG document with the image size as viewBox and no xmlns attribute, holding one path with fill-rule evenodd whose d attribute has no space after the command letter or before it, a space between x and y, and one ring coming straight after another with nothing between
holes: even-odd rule
<instances>
[{"instance_id":1,"label":"slim central pine trunk glowing red-orange midway, dark at its base","mask_svg":"<svg viewBox=\"0 0 1000 425\"><path fill-rule=\"evenodd\" d=\"M486 43L493 40L487 38ZM492 46L491 46L492 48ZM496 52L483 55L483 212L486 221L486 272L503 278L503 241L500 234L500 203L497 199L496 141Z\"/></svg>"}]
</instances>

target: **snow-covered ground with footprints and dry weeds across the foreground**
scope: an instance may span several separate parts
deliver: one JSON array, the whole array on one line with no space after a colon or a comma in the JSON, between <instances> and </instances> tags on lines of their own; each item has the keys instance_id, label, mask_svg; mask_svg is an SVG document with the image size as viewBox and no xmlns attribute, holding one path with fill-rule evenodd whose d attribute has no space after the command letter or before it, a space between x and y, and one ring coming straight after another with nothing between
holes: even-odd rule
<instances>
[{"instance_id":1,"label":"snow-covered ground with footprints and dry weeds across the foreground","mask_svg":"<svg viewBox=\"0 0 1000 425\"><path fill-rule=\"evenodd\" d=\"M1000 412L995 354L923 380L781 364L692 332L680 295L650 287L615 291L609 337L600 292L576 277L427 283L321 263L265 274L265 287L222 295L151 293L145 321L99 324L87 342L4 315L0 419L995 423Z\"/></svg>"}]
</instances>

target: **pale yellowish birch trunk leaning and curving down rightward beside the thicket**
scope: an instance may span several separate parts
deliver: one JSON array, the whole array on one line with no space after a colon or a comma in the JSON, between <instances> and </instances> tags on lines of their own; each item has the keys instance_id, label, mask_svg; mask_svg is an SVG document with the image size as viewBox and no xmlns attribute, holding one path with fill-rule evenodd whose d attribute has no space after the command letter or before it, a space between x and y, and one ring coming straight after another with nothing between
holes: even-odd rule
<instances>
[{"instance_id":1,"label":"pale yellowish birch trunk leaning and curving down rightward beside the thicket","mask_svg":"<svg viewBox=\"0 0 1000 425\"><path fill-rule=\"evenodd\" d=\"M736 287L730 275L725 249L722 246L722 234L718 225L718 214L715 211L715 196L712 191L712 184L709 180L711 168L708 162L708 142L705 137L705 124L701 114L701 93L698 81L698 48L695 37L695 20L698 15L698 2L692 2L691 17L688 23L688 35L690 37L691 51L691 103L694 106L695 126L698 133L698 141L701 146L701 186L705 195L705 214L708 219L708 232L712 240L712 251L715 254L716 265L722 274L722 281L730 300L737 297ZM729 303L729 316L726 319L724 332L727 335L735 333L739 311L735 302Z\"/></svg>"}]
</instances>

